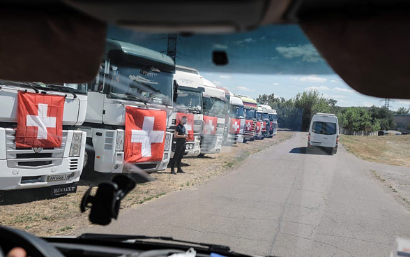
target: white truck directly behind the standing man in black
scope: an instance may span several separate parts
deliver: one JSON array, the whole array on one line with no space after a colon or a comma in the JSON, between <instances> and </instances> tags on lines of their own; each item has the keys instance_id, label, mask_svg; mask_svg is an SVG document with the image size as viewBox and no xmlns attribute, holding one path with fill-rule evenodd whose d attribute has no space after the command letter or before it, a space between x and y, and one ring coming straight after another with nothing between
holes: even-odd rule
<instances>
[{"instance_id":1,"label":"white truck directly behind the standing man in black","mask_svg":"<svg viewBox=\"0 0 410 257\"><path fill-rule=\"evenodd\" d=\"M171 117L172 131L179 123L179 117L186 116L188 138L185 145L185 156L201 154L201 133L204 115L202 115L202 92L204 81L194 68L177 65L174 75L176 81L176 105Z\"/></svg>"}]
</instances>

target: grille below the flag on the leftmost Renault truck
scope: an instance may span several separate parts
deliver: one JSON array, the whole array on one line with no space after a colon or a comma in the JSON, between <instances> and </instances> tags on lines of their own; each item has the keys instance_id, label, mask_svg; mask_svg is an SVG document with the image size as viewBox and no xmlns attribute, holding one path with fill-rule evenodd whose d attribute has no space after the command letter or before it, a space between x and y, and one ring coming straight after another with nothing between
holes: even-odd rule
<instances>
[{"instance_id":1,"label":"grille below the flag on the leftmost Renault truck","mask_svg":"<svg viewBox=\"0 0 410 257\"><path fill-rule=\"evenodd\" d=\"M68 131L63 131L61 147L43 148L40 153L34 152L32 148L15 147L15 130L6 129L6 153L7 159L33 159L33 158L63 158L66 147Z\"/></svg>"}]
</instances>

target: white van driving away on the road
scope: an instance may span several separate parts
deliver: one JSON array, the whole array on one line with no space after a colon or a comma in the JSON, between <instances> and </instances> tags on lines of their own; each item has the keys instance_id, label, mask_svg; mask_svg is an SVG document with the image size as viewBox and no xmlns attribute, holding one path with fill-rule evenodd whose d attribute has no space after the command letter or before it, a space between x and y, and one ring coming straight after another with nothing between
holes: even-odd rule
<instances>
[{"instance_id":1,"label":"white van driving away on the road","mask_svg":"<svg viewBox=\"0 0 410 257\"><path fill-rule=\"evenodd\" d=\"M329 154L336 154L339 145L339 122L331 113L317 113L310 122L307 151L312 147L328 149Z\"/></svg>"}]
</instances>

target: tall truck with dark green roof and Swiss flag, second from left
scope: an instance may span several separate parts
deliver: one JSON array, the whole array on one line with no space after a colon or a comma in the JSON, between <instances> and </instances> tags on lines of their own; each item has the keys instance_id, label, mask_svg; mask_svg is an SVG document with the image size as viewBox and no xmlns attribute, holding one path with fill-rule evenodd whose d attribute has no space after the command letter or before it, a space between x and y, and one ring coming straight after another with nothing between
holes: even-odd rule
<instances>
[{"instance_id":1,"label":"tall truck with dark green roof and Swiss flag, second from left","mask_svg":"<svg viewBox=\"0 0 410 257\"><path fill-rule=\"evenodd\" d=\"M147 172L167 168L174 71L174 61L164 54L106 41L81 127L87 135L86 170L123 172L124 163Z\"/></svg>"}]
</instances>

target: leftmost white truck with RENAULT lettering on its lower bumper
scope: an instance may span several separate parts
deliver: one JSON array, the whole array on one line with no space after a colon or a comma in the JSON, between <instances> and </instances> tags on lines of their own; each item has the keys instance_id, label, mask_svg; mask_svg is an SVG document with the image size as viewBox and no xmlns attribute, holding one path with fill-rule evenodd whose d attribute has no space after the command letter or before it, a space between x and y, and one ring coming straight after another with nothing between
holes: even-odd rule
<instances>
[{"instance_id":1,"label":"leftmost white truck with RENAULT lettering on its lower bumper","mask_svg":"<svg viewBox=\"0 0 410 257\"><path fill-rule=\"evenodd\" d=\"M0 200L46 186L51 196L75 193L86 135L74 126L84 122L86 85L1 80L0 102Z\"/></svg>"}]
</instances>

